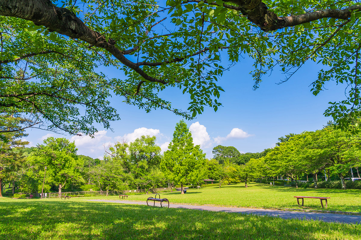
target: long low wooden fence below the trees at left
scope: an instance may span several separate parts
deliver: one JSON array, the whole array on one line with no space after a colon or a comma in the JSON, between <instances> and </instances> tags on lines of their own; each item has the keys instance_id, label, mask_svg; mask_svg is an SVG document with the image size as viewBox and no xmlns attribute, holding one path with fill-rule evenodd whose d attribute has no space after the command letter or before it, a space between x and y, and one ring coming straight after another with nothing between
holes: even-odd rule
<instances>
[{"instance_id":1,"label":"long low wooden fence below the trees at left","mask_svg":"<svg viewBox=\"0 0 361 240\"><path fill-rule=\"evenodd\" d=\"M62 192L62 193L44 193L44 198L60 198L61 195L79 196L79 195L92 195L92 196L114 196L120 194L133 194L133 193L161 193L171 191L172 187L160 187L153 189L136 189L136 190L123 190L123 191L79 191L79 192ZM41 193L18 193L18 194L32 194L34 197L41 197Z\"/></svg>"}]
</instances>

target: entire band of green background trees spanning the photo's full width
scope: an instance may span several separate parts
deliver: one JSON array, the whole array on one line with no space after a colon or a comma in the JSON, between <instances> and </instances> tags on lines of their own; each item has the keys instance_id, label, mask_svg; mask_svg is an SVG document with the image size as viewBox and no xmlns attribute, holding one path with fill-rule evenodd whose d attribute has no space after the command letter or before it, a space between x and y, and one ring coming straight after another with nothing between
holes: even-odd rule
<instances>
[{"instance_id":1,"label":"entire band of green background trees spanning the photo's full width","mask_svg":"<svg viewBox=\"0 0 361 240\"><path fill-rule=\"evenodd\" d=\"M2 115L3 128L17 128L19 116ZM192 134L182 120L175 126L168 150L161 154L156 137L141 136L133 142L116 142L105 150L104 158L78 155L74 142L49 137L36 147L25 148L29 142L22 131L1 135L0 187L9 184L12 193L79 190L129 190L157 187L201 185L204 179L222 184L244 182L256 178L278 176L295 182L312 176L317 188L317 175L325 180L353 177L361 165L361 138L349 136L328 124L321 130L290 133L280 137L274 148L261 153L240 153L233 146L213 148L213 159L206 159L199 145L194 146ZM46 169L45 169L46 167ZM46 170L46 172L45 172ZM356 174L356 173L355 173Z\"/></svg>"}]
</instances>

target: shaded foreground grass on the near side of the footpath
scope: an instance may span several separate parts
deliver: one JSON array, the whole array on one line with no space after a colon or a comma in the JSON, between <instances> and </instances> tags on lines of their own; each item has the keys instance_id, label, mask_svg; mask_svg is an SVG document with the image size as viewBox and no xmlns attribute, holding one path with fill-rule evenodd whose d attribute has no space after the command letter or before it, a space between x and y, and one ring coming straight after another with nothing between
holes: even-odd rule
<instances>
[{"instance_id":1,"label":"shaded foreground grass on the near side of the footpath","mask_svg":"<svg viewBox=\"0 0 361 240\"><path fill-rule=\"evenodd\" d=\"M196 194L186 196L190 195ZM76 198L70 200L0 198L1 240L358 240L360 236L361 225L88 202Z\"/></svg>"}]
</instances>

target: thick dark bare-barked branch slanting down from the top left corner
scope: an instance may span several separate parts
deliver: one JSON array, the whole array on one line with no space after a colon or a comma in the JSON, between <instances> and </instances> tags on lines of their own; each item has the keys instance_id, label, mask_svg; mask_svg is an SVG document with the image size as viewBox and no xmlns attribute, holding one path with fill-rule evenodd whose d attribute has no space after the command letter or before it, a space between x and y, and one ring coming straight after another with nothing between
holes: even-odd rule
<instances>
[{"instance_id":1,"label":"thick dark bare-barked branch slanting down from the top left corner","mask_svg":"<svg viewBox=\"0 0 361 240\"><path fill-rule=\"evenodd\" d=\"M133 69L145 80L167 84L166 81L153 78L127 59L117 47L115 41L108 39L99 32L88 28L73 12L66 8L59 8L50 0L1 0L0 15L17 17L34 22L36 25L45 26L49 31L55 31L73 39L81 39L96 47L101 47L127 67Z\"/></svg>"}]
</instances>

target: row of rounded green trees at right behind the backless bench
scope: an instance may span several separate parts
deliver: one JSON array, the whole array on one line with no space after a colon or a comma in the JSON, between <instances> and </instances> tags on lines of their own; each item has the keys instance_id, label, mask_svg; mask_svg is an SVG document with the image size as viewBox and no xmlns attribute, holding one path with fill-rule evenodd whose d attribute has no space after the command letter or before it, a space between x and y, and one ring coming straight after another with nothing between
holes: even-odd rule
<instances>
[{"instance_id":1,"label":"row of rounded green trees at right behind the backless bench","mask_svg":"<svg viewBox=\"0 0 361 240\"><path fill-rule=\"evenodd\" d=\"M361 165L361 136L349 136L332 126L322 130L290 134L278 146L259 159L265 176L286 175L296 181L300 176L313 176L317 188L317 174L326 179L337 177L345 189L344 177L353 176L353 168ZM326 180L325 179L325 180Z\"/></svg>"}]
</instances>

